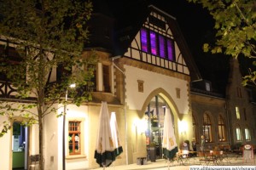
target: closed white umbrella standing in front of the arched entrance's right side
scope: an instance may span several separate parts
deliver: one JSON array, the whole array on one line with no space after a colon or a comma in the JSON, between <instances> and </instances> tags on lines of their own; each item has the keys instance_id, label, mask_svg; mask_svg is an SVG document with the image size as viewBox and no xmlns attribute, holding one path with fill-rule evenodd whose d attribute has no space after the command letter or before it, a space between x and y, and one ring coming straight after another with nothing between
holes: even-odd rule
<instances>
[{"instance_id":1,"label":"closed white umbrella standing in front of the arched entrance's right side","mask_svg":"<svg viewBox=\"0 0 256 170\"><path fill-rule=\"evenodd\" d=\"M166 108L164 130L163 130L163 154L169 160L172 160L177 153L177 143L172 125L172 116L169 109Z\"/></svg>"}]
</instances>

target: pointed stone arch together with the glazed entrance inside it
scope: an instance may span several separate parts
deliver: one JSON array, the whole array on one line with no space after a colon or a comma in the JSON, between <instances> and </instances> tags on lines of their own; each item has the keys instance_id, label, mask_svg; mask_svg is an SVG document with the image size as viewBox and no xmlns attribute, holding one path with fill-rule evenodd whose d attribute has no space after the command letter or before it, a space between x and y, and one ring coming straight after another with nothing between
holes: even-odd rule
<instances>
[{"instance_id":1,"label":"pointed stone arch together with the glazed entrance inside it","mask_svg":"<svg viewBox=\"0 0 256 170\"><path fill-rule=\"evenodd\" d=\"M161 139L166 109L169 109L171 111L172 123L174 125L174 130L178 140L177 122L179 120L179 114L177 114L177 106L175 105L175 102L172 99L172 97L169 94L167 94L164 89L158 88L148 95L148 98L146 99L143 105L142 114L140 115L140 117L143 118L144 116L144 119L147 122L147 128L145 131L145 144L148 150L148 158L151 152L149 148L153 144L155 145L155 158L162 158Z\"/></svg>"}]
</instances>

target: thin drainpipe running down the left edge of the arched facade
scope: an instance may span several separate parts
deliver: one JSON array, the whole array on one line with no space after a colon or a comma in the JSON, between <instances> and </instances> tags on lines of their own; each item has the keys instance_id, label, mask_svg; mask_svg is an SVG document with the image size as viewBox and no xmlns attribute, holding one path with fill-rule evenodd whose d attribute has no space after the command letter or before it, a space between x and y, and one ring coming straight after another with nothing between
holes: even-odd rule
<instances>
[{"instance_id":1,"label":"thin drainpipe running down the left edge of the arched facade","mask_svg":"<svg viewBox=\"0 0 256 170\"><path fill-rule=\"evenodd\" d=\"M126 165L128 165L128 144L127 144L128 143L128 141L127 141L127 129L128 129L128 127L127 127L127 116L126 116L126 107L125 107L125 72L122 71L119 68L119 66L115 65L115 63L114 63L114 59L119 59L119 58L121 58L120 55L114 56L112 58L112 63L113 63L113 66L117 70L119 70L123 74L123 76L124 76L124 78L123 78L123 91L124 91L124 112L125 112L125 155L126 155Z\"/></svg>"}]
</instances>

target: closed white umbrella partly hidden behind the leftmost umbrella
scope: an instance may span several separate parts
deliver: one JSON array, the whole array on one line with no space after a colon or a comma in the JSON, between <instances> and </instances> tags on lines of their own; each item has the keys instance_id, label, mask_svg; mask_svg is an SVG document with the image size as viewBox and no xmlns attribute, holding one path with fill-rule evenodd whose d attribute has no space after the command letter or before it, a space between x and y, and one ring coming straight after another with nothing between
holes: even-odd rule
<instances>
[{"instance_id":1,"label":"closed white umbrella partly hidden behind the leftmost umbrella","mask_svg":"<svg viewBox=\"0 0 256 170\"><path fill-rule=\"evenodd\" d=\"M114 112L112 112L110 116L110 127L111 127L115 156L119 156L123 152L123 147L120 144L119 128L116 122L116 116Z\"/></svg>"}]
</instances>

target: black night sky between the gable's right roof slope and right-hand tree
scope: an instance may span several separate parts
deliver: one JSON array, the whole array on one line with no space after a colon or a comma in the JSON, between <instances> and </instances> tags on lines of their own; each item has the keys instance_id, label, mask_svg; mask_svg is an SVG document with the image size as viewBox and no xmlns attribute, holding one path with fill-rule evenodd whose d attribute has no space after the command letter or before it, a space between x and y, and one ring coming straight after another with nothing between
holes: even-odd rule
<instances>
[{"instance_id":1,"label":"black night sky between the gable's right roof slope and right-hand tree","mask_svg":"<svg viewBox=\"0 0 256 170\"><path fill-rule=\"evenodd\" d=\"M202 51L203 43L212 42L215 37L214 20L208 10L200 4L186 0L148 2L177 19L201 76L212 82L213 90L224 93L229 73L229 58L223 54L213 55Z\"/></svg>"}]
</instances>

